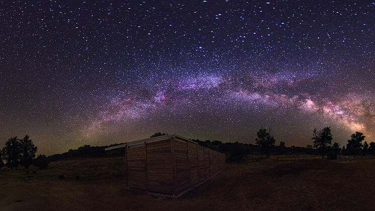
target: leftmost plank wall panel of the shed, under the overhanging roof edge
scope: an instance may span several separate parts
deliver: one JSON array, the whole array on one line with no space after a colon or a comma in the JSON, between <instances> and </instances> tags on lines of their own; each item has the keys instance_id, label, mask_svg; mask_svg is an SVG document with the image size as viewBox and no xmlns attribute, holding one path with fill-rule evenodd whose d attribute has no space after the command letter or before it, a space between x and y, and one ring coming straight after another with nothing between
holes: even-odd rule
<instances>
[{"instance_id":1,"label":"leftmost plank wall panel of the shed, under the overhanging roof edge","mask_svg":"<svg viewBox=\"0 0 375 211\"><path fill-rule=\"evenodd\" d=\"M129 187L146 190L145 161L144 146L127 149L127 181Z\"/></svg>"}]
</instances>

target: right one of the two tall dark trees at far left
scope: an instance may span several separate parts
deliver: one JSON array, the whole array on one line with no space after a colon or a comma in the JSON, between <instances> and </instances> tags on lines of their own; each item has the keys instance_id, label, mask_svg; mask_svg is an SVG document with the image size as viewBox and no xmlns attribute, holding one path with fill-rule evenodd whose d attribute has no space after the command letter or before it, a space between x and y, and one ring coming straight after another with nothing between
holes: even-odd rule
<instances>
[{"instance_id":1,"label":"right one of the two tall dark trees at far left","mask_svg":"<svg viewBox=\"0 0 375 211\"><path fill-rule=\"evenodd\" d=\"M21 165L25 166L26 169L31 166L33 159L35 158L35 153L38 150L34 146L33 142L28 135L25 135L24 138L20 139L20 150L21 150Z\"/></svg>"}]
</instances>

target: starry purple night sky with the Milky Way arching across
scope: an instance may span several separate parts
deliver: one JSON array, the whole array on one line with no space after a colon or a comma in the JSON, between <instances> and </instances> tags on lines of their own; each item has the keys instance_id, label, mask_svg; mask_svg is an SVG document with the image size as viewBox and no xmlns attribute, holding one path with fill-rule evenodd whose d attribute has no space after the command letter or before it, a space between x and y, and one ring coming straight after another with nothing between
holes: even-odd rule
<instances>
[{"instance_id":1,"label":"starry purple night sky with the Milky Way arching across","mask_svg":"<svg viewBox=\"0 0 375 211\"><path fill-rule=\"evenodd\" d=\"M375 2L31 1L0 6L0 148L157 131L276 145L375 141Z\"/></svg>"}]
</instances>

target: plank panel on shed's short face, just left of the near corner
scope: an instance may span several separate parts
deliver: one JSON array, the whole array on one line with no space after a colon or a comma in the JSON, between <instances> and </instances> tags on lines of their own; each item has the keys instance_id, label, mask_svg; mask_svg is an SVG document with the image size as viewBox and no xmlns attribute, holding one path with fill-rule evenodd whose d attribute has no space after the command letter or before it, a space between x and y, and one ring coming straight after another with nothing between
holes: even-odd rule
<instances>
[{"instance_id":1,"label":"plank panel on shed's short face, just left of the near corner","mask_svg":"<svg viewBox=\"0 0 375 211\"><path fill-rule=\"evenodd\" d=\"M171 140L146 143L147 190L158 193L174 193L174 162Z\"/></svg>"}]
</instances>

